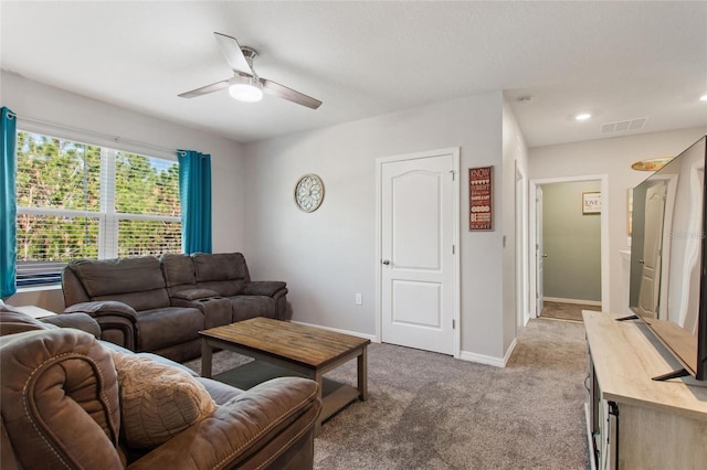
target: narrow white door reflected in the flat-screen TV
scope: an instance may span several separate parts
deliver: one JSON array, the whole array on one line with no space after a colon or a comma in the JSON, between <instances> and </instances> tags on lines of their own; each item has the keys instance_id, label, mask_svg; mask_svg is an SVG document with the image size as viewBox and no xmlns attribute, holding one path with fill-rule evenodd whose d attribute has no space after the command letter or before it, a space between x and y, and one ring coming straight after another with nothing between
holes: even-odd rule
<instances>
[{"instance_id":1,"label":"narrow white door reflected in the flat-screen TV","mask_svg":"<svg viewBox=\"0 0 707 470\"><path fill-rule=\"evenodd\" d=\"M645 233L641 269L639 309L641 314L657 318L661 301L661 261L663 245L663 218L665 214L666 184L661 182L646 191Z\"/></svg>"}]
</instances>

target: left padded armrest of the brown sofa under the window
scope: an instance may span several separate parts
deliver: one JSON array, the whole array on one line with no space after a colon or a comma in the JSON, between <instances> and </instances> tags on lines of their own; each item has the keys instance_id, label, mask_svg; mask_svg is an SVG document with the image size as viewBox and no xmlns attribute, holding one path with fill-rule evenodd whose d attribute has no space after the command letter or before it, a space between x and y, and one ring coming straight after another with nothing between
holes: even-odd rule
<instances>
[{"instance_id":1,"label":"left padded armrest of the brown sofa under the window","mask_svg":"<svg viewBox=\"0 0 707 470\"><path fill-rule=\"evenodd\" d=\"M67 307L62 314L86 313L101 325L101 339L116 343L130 351L137 345L137 312L126 303L116 300L81 302Z\"/></svg>"}]
</instances>

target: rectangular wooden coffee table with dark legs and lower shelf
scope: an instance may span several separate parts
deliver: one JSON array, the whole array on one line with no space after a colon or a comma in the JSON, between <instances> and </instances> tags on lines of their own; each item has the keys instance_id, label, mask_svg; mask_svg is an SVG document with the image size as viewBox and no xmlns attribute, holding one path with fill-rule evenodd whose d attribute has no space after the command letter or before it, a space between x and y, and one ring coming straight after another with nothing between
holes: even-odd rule
<instances>
[{"instance_id":1,"label":"rectangular wooden coffee table with dark legs and lower shelf","mask_svg":"<svg viewBox=\"0 0 707 470\"><path fill-rule=\"evenodd\" d=\"M202 337L201 375L211 377L214 349L236 352L255 361L214 378L247 389L274 376L299 375L319 384L321 423L360 398L368 399L367 346L370 340L268 318L253 318L199 332ZM352 360L358 361L358 387L339 384L324 374ZM264 363L264 364L263 364Z\"/></svg>"}]
</instances>

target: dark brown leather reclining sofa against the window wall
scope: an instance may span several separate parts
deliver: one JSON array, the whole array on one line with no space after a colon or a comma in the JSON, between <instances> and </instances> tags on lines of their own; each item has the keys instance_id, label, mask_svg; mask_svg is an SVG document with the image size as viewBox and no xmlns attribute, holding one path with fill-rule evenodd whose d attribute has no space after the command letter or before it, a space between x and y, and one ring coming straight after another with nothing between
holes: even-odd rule
<instances>
[{"instance_id":1,"label":"dark brown leather reclining sofa against the window wall","mask_svg":"<svg viewBox=\"0 0 707 470\"><path fill-rule=\"evenodd\" d=\"M62 288L64 312L96 319L103 340L177 362L201 354L201 330L287 310L286 284L251 280L241 253L82 259Z\"/></svg>"}]
</instances>

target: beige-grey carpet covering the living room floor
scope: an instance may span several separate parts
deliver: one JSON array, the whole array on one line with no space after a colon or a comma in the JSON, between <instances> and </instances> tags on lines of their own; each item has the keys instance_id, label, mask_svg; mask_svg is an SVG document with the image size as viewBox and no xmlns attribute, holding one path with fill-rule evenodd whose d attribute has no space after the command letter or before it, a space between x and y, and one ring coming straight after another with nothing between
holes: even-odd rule
<instances>
[{"instance_id":1,"label":"beige-grey carpet covering the living room floor","mask_svg":"<svg viewBox=\"0 0 707 470\"><path fill-rule=\"evenodd\" d=\"M324 424L315 468L585 469L585 348L581 323L544 319L505 368L371 344L370 398ZM214 373L241 362L217 353ZM355 385L356 362L327 376Z\"/></svg>"}]
</instances>

